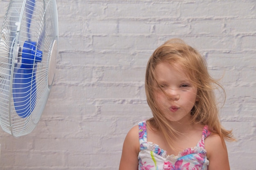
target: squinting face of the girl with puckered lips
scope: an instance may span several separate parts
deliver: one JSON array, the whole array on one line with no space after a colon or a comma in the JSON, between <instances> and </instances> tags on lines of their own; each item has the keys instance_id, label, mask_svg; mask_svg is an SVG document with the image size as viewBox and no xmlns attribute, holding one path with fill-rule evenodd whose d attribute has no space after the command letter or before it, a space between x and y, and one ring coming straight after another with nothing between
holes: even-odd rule
<instances>
[{"instance_id":1,"label":"squinting face of the girl with puckered lips","mask_svg":"<svg viewBox=\"0 0 256 170\"><path fill-rule=\"evenodd\" d=\"M155 68L157 90L154 92L156 104L169 121L188 123L191 109L197 99L197 88L179 65L175 68L167 62ZM162 89L161 89L162 88Z\"/></svg>"}]
</instances>

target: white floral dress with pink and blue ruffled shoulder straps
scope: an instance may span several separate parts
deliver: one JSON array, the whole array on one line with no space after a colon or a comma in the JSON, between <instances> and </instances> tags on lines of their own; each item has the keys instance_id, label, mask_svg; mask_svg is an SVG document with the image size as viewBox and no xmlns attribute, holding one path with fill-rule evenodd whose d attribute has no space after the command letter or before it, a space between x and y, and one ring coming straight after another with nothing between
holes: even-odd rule
<instances>
[{"instance_id":1,"label":"white floral dress with pink and blue ruffled shoulder straps","mask_svg":"<svg viewBox=\"0 0 256 170\"><path fill-rule=\"evenodd\" d=\"M147 141L146 121L139 122L139 170L207 170L209 160L204 149L204 139L211 134L204 126L197 146L187 148L179 155L167 155L157 144Z\"/></svg>"}]
</instances>

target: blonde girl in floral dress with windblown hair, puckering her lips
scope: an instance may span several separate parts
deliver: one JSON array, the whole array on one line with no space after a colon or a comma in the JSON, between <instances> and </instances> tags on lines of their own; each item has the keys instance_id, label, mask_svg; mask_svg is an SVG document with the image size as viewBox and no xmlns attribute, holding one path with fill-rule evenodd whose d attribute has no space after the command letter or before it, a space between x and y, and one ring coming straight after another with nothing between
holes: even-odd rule
<instances>
[{"instance_id":1,"label":"blonde girl in floral dress with windblown hair, puckering her lips","mask_svg":"<svg viewBox=\"0 0 256 170\"><path fill-rule=\"evenodd\" d=\"M153 117L127 134L119 170L230 170L213 90L202 56L180 39L159 46L146 68Z\"/></svg>"}]
</instances>

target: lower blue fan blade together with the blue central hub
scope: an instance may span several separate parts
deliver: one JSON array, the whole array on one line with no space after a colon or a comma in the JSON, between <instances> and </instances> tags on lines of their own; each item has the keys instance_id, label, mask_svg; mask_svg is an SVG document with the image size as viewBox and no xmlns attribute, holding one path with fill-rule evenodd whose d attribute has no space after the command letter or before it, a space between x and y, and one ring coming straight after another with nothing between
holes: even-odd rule
<instances>
[{"instance_id":1,"label":"lower blue fan blade together with the blue central hub","mask_svg":"<svg viewBox=\"0 0 256 170\"><path fill-rule=\"evenodd\" d=\"M42 51L36 49L36 42L25 41L20 68L13 71L13 102L16 113L28 117L36 104L36 63L42 61ZM16 64L17 65L17 64Z\"/></svg>"}]
</instances>

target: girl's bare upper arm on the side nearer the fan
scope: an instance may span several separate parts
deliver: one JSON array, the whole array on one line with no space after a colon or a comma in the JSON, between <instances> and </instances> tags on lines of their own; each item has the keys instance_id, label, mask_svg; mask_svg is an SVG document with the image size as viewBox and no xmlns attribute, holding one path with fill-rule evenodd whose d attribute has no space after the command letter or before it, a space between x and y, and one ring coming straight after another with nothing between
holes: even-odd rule
<instances>
[{"instance_id":1,"label":"girl's bare upper arm on the side nearer the fan","mask_svg":"<svg viewBox=\"0 0 256 170\"><path fill-rule=\"evenodd\" d=\"M134 126L124 139L119 170L138 170L139 127Z\"/></svg>"}]
</instances>

